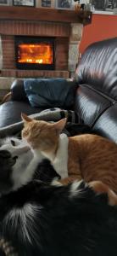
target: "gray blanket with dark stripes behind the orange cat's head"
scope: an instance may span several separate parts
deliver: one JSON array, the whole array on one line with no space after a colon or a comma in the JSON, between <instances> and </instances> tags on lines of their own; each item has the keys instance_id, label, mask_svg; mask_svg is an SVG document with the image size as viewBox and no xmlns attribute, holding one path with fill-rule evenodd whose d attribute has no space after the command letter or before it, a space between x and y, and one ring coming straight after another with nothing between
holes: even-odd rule
<instances>
[{"instance_id":1,"label":"gray blanket with dark stripes behind the orange cat's head","mask_svg":"<svg viewBox=\"0 0 117 256\"><path fill-rule=\"evenodd\" d=\"M52 108L43 110L41 113L30 115L31 118L45 121L58 121L59 119L67 118L68 122L78 123L79 117L74 111L62 110L60 108ZM0 129L0 137L13 136L23 129L23 121L8 125Z\"/></svg>"}]
</instances>

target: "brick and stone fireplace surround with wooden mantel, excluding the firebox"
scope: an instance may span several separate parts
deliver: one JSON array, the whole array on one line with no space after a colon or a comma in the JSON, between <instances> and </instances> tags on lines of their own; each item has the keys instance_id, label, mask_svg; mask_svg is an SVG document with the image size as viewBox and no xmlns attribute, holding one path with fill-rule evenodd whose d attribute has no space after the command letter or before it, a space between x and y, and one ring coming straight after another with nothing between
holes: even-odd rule
<instances>
[{"instance_id":1,"label":"brick and stone fireplace surround with wooden mantel, excluding the firebox","mask_svg":"<svg viewBox=\"0 0 117 256\"><path fill-rule=\"evenodd\" d=\"M2 49L0 51L3 57L0 63L0 81L2 81L0 87L6 78L8 79L7 83L10 84L11 80L15 78L70 78L70 66L72 66L73 61L78 61L78 43L81 40L81 32L82 25L79 23L75 10L1 6L0 36ZM15 36L54 37L55 70L17 69L15 66Z\"/></svg>"}]
</instances>

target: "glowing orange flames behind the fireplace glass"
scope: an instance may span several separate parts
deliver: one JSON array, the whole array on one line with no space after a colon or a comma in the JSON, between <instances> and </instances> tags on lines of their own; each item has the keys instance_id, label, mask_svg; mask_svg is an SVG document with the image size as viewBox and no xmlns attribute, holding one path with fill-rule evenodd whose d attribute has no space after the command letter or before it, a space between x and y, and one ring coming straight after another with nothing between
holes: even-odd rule
<instances>
[{"instance_id":1,"label":"glowing orange flames behind the fireplace glass","mask_svg":"<svg viewBox=\"0 0 117 256\"><path fill-rule=\"evenodd\" d=\"M53 64L52 44L19 44L18 53L19 63Z\"/></svg>"}]
</instances>

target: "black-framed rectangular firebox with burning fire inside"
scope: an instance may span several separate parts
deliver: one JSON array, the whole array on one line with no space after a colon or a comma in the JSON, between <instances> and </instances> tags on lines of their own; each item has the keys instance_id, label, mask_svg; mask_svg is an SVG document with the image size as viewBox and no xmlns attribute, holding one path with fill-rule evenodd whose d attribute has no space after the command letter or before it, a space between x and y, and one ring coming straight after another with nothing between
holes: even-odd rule
<instances>
[{"instance_id":1,"label":"black-framed rectangular firebox with burning fire inside","mask_svg":"<svg viewBox=\"0 0 117 256\"><path fill-rule=\"evenodd\" d=\"M16 67L19 69L55 69L55 38L15 37Z\"/></svg>"}]
</instances>

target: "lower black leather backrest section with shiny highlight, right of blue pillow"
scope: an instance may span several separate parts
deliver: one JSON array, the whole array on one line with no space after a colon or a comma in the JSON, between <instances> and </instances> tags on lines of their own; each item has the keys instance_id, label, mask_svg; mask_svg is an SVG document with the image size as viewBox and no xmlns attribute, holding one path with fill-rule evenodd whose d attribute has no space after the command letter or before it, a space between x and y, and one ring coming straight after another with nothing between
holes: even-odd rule
<instances>
[{"instance_id":1,"label":"lower black leather backrest section with shiny highlight, right of blue pillow","mask_svg":"<svg viewBox=\"0 0 117 256\"><path fill-rule=\"evenodd\" d=\"M75 112L84 124L92 127L99 116L113 104L113 99L104 96L91 86L82 84L76 91Z\"/></svg>"}]
</instances>

